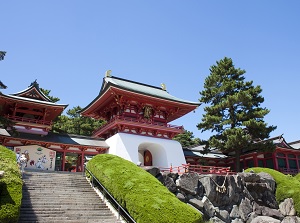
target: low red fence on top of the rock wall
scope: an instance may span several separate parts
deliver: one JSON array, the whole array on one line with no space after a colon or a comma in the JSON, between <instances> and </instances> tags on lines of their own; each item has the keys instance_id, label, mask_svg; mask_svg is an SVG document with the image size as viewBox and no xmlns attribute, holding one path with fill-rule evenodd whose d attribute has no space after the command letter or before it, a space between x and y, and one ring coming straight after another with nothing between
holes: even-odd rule
<instances>
[{"instance_id":1,"label":"low red fence on top of the rock wall","mask_svg":"<svg viewBox=\"0 0 300 223\"><path fill-rule=\"evenodd\" d=\"M201 165L191 165L191 164L182 164L182 166L169 168L160 167L162 172L170 172L170 173L199 173L199 174L218 174L218 175L227 175L227 174L236 174L230 170L230 167L216 167L216 166L201 166Z\"/></svg>"}]
</instances>

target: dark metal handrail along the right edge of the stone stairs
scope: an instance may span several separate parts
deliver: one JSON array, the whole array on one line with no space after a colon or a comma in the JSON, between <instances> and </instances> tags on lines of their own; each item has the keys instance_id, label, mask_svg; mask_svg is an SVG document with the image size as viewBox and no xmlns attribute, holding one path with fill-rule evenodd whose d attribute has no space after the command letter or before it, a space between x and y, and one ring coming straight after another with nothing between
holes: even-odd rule
<instances>
[{"instance_id":1,"label":"dark metal handrail along the right edge of the stone stairs","mask_svg":"<svg viewBox=\"0 0 300 223\"><path fill-rule=\"evenodd\" d=\"M94 179L101 187L101 192L103 196L110 201L110 203L114 206L115 209L118 210L119 216L121 215L124 220L126 220L128 223L136 223L136 221L130 216L130 214L127 212L126 209L124 209L118 201L106 190L106 188L100 183L100 181L92 174L92 172L85 166L85 170L88 171L88 173L92 176L92 186L94 187ZM104 192L104 193L103 193ZM116 207L117 206L117 207ZM119 220L118 216L118 220Z\"/></svg>"}]
</instances>

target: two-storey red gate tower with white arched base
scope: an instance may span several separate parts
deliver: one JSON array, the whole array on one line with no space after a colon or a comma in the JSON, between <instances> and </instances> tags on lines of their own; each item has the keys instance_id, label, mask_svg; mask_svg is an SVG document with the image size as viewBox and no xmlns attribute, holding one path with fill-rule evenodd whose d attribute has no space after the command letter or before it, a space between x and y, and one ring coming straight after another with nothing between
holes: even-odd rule
<instances>
[{"instance_id":1,"label":"two-storey red gate tower with white arched base","mask_svg":"<svg viewBox=\"0 0 300 223\"><path fill-rule=\"evenodd\" d=\"M113 77L108 71L99 95L81 115L106 120L93 137L105 139L107 153L143 166L181 166L186 164L183 150L172 138L184 129L170 122L199 105L172 96L164 84L154 87Z\"/></svg>"}]
</instances>

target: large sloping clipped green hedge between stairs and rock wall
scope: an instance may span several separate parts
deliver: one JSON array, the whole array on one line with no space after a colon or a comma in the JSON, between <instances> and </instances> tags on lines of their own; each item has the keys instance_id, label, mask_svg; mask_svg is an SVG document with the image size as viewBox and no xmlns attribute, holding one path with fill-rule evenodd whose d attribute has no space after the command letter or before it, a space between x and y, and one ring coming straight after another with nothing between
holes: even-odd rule
<instances>
[{"instance_id":1,"label":"large sloping clipped green hedge between stairs and rock wall","mask_svg":"<svg viewBox=\"0 0 300 223\"><path fill-rule=\"evenodd\" d=\"M198 211L132 162L100 154L87 167L138 223L202 222Z\"/></svg>"}]
</instances>

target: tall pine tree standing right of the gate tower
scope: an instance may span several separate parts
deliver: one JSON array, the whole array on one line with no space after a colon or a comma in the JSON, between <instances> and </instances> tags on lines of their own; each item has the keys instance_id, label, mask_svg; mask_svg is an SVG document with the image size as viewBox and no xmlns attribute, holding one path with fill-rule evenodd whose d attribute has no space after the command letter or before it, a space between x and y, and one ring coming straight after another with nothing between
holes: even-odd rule
<instances>
[{"instance_id":1,"label":"tall pine tree standing right of the gate tower","mask_svg":"<svg viewBox=\"0 0 300 223\"><path fill-rule=\"evenodd\" d=\"M209 140L211 148L234 152L236 171L240 171L240 155L250 149L272 149L269 138L276 126L268 126L264 117L270 110L262 108L264 98L260 86L245 81L245 70L235 68L232 59L225 57L210 67L204 81L200 102L207 104L197 127L215 134Z\"/></svg>"}]
</instances>

